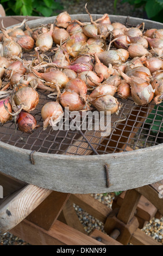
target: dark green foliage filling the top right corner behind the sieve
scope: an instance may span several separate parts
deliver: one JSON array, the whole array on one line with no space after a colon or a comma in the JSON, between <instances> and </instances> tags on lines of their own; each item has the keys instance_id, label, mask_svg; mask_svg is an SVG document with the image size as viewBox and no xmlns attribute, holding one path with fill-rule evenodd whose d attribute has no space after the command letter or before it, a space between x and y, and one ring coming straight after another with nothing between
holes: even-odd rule
<instances>
[{"instance_id":1,"label":"dark green foliage filling the top right corner behind the sieve","mask_svg":"<svg viewBox=\"0 0 163 256\"><path fill-rule=\"evenodd\" d=\"M117 0L115 0L116 2ZM143 7L148 19L163 22L163 0L122 0L121 3L128 2L135 8Z\"/></svg>"}]
</instances>

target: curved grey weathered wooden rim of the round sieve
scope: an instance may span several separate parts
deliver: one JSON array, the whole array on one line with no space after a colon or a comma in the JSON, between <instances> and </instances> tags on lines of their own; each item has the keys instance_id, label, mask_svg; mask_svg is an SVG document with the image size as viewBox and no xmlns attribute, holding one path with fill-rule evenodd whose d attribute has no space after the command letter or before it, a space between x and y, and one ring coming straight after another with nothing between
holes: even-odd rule
<instances>
[{"instance_id":1,"label":"curved grey weathered wooden rim of the round sieve","mask_svg":"<svg viewBox=\"0 0 163 256\"><path fill-rule=\"evenodd\" d=\"M72 19L88 20L88 15L71 15ZM93 20L101 15L92 15ZM126 23L126 16L110 15L112 22ZM54 22L54 17L27 22L30 28ZM162 28L159 22L129 18L135 26L145 22L146 28ZM13 27L13 26L12 26ZM49 190L65 193L104 193L142 187L163 179L163 144L154 147L106 155L71 156L37 153L30 162L30 150L0 142L1 172L16 179ZM106 187L104 165L109 167Z\"/></svg>"}]
</instances>

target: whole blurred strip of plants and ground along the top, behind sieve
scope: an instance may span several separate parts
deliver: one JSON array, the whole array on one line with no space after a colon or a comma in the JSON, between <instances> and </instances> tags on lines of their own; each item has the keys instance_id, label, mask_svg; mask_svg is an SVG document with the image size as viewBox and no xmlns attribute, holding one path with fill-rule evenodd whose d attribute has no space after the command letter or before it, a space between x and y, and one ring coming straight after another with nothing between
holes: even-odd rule
<instances>
[{"instance_id":1,"label":"whole blurred strip of plants and ground along the top, behind sieve","mask_svg":"<svg viewBox=\"0 0 163 256\"><path fill-rule=\"evenodd\" d=\"M90 13L116 14L141 17L163 22L163 0L0 0L6 15L54 16L62 11L69 14L85 13L84 5Z\"/></svg>"}]
</instances>

